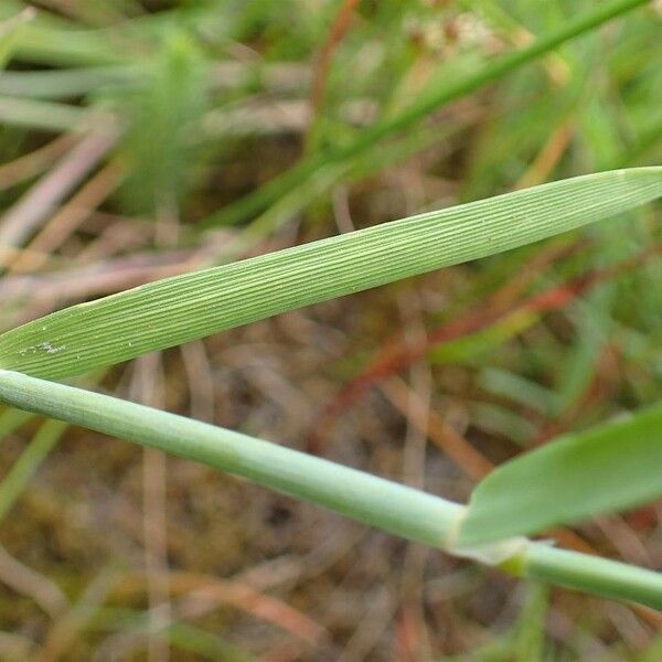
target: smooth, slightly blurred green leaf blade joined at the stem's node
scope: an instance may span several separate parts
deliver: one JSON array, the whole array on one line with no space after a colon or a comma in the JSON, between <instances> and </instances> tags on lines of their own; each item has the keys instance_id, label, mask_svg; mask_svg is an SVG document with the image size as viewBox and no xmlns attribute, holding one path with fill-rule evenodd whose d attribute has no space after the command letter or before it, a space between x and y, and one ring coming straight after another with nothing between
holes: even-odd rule
<instances>
[{"instance_id":1,"label":"smooth, slightly blurred green leaf blade joined at the stem's node","mask_svg":"<svg viewBox=\"0 0 662 662\"><path fill-rule=\"evenodd\" d=\"M662 494L654 461L661 445L659 405L522 455L476 488L458 544L528 535L653 500Z\"/></svg>"}]
</instances>

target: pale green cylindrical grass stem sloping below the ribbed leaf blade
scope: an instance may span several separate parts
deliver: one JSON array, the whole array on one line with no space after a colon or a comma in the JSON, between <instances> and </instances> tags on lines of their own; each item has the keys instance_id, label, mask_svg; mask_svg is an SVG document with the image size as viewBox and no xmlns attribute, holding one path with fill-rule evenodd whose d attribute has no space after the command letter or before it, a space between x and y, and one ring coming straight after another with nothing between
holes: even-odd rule
<instances>
[{"instance_id":1,"label":"pale green cylindrical grass stem sloping below the ribbed leaf blade","mask_svg":"<svg viewBox=\"0 0 662 662\"><path fill-rule=\"evenodd\" d=\"M451 544L465 512L446 499L276 444L21 373L0 371L0 401L242 476L438 548ZM528 543L502 567L516 576L662 609L662 575L622 563Z\"/></svg>"}]
</instances>

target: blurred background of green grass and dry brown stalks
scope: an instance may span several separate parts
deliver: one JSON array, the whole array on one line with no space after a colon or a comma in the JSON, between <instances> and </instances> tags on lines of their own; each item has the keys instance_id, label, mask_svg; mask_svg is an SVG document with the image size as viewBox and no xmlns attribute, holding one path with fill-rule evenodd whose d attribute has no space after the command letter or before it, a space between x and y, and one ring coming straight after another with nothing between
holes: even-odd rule
<instances>
[{"instance_id":1,"label":"blurred background of green grass and dry brown stalks","mask_svg":"<svg viewBox=\"0 0 662 662\"><path fill-rule=\"evenodd\" d=\"M2 328L659 163L658 4L621 2L631 11L534 57L600 4L3 1ZM506 53L525 55L499 65ZM649 205L83 383L466 501L493 465L660 399L660 235ZM14 409L0 433L2 659L661 654L651 611L515 583ZM658 519L651 504L555 535L659 568Z\"/></svg>"}]
</instances>

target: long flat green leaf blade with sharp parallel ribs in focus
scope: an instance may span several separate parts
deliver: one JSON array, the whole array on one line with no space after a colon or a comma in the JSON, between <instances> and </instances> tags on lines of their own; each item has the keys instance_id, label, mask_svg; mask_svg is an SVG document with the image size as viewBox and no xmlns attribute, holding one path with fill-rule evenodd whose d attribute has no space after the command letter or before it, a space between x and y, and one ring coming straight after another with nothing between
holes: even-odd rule
<instances>
[{"instance_id":1,"label":"long flat green leaf blade with sharp parallel ribs in focus","mask_svg":"<svg viewBox=\"0 0 662 662\"><path fill-rule=\"evenodd\" d=\"M60 378L494 255L662 195L662 168L590 174L429 212L81 303L0 335L0 367Z\"/></svg>"}]
</instances>

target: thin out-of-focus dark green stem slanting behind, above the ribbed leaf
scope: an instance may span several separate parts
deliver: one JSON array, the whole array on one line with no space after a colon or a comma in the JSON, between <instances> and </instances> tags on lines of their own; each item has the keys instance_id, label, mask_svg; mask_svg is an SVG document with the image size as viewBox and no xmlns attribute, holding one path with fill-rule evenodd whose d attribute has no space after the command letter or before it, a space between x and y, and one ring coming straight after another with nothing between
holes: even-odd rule
<instances>
[{"instance_id":1,"label":"thin out-of-focus dark green stem slanting behind, above the ribbed leaf","mask_svg":"<svg viewBox=\"0 0 662 662\"><path fill-rule=\"evenodd\" d=\"M527 46L491 60L485 66L478 68L468 76L460 76L450 82L442 78L440 85L426 89L402 113L393 117L386 117L372 127L362 129L356 139L346 145L335 149L318 151L310 158L301 160L293 168L267 182L254 193L207 217L202 225L235 224L260 214L329 163L360 157L378 141L412 127L438 108L462 98L493 81L498 81L517 67L533 62L545 53L549 53L565 42L586 34L602 23L644 4L645 1L616 0L609 3L598 3L591 11L569 19L558 30L544 34Z\"/></svg>"}]
</instances>

